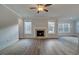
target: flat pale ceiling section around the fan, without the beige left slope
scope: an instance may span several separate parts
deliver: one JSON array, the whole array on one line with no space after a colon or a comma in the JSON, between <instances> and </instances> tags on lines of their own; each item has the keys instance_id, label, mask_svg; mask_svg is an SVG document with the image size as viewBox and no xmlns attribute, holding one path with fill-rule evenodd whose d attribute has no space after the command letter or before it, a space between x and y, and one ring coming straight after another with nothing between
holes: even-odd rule
<instances>
[{"instance_id":1,"label":"flat pale ceiling section around the fan, without the beige left slope","mask_svg":"<svg viewBox=\"0 0 79 59\"><path fill-rule=\"evenodd\" d=\"M48 7L48 12L40 12L31 10L30 7L35 4L7 4L7 7L15 11L22 17L56 17L58 19L78 19L79 5L78 4L52 4Z\"/></svg>"}]
</instances>

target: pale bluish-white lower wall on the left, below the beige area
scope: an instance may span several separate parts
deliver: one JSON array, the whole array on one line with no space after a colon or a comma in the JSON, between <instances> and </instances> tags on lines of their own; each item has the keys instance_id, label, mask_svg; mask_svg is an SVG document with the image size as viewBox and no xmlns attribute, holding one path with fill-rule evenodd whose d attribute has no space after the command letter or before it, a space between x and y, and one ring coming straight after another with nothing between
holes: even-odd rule
<instances>
[{"instance_id":1,"label":"pale bluish-white lower wall on the left, below the beige area","mask_svg":"<svg viewBox=\"0 0 79 59\"><path fill-rule=\"evenodd\" d=\"M0 29L0 50L18 40L18 25Z\"/></svg>"}]
</instances>

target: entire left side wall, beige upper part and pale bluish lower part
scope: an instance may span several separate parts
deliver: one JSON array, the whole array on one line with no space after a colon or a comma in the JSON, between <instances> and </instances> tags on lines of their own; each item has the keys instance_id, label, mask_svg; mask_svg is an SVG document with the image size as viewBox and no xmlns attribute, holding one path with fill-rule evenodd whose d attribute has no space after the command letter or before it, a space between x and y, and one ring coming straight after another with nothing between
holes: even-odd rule
<instances>
[{"instance_id":1,"label":"entire left side wall, beige upper part and pale bluish lower part","mask_svg":"<svg viewBox=\"0 0 79 59\"><path fill-rule=\"evenodd\" d=\"M17 16L0 5L0 50L18 40Z\"/></svg>"}]
</instances>

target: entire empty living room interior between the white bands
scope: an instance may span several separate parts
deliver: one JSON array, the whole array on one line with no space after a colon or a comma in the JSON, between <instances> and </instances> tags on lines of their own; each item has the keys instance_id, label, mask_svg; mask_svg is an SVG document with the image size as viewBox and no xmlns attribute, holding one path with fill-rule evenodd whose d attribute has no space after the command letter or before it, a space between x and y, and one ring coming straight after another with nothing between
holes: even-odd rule
<instances>
[{"instance_id":1,"label":"entire empty living room interior between the white bands","mask_svg":"<svg viewBox=\"0 0 79 59\"><path fill-rule=\"evenodd\" d=\"M38 12L36 6L39 7L40 5L46 11ZM79 54L78 15L79 5L73 4L1 4L0 54ZM17 43L18 41L19 43ZM61 44L57 43L58 41ZM35 44L34 47L29 48L29 45L33 45L32 43ZM48 44L49 46L47 45L46 47L50 47L55 45L53 43L57 44L57 46L54 46L55 50L61 45L65 46L63 49L67 47L69 50L62 49L66 51L64 53L60 51L61 49L59 50L60 53L54 50L50 51L48 48L46 49L49 52L42 50L45 47L43 44ZM43 48L41 48L42 46ZM25 49L27 50L25 52L24 48L26 47L33 53L30 53L27 49Z\"/></svg>"}]
</instances>

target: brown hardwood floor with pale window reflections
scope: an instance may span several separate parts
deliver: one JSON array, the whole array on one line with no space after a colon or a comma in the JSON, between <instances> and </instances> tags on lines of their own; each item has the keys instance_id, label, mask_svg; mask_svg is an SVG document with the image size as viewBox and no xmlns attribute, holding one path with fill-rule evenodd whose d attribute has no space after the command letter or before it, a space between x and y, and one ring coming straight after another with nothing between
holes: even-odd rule
<instances>
[{"instance_id":1,"label":"brown hardwood floor with pale window reflections","mask_svg":"<svg viewBox=\"0 0 79 59\"><path fill-rule=\"evenodd\" d=\"M58 39L22 39L0 51L1 55L74 55L76 50Z\"/></svg>"}]
</instances>

